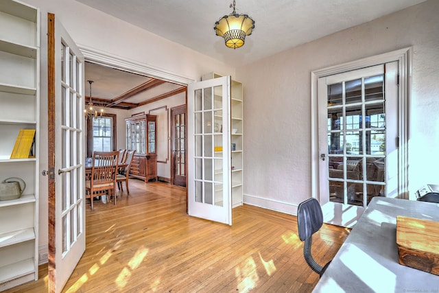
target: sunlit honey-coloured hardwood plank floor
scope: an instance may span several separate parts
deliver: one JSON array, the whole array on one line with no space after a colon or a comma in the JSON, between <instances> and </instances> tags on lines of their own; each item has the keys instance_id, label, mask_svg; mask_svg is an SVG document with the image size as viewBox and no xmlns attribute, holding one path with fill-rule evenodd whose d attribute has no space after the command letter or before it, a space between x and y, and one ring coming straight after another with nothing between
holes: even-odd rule
<instances>
[{"instance_id":1,"label":"sunlit honey-coloured hardwood plank floor","mask_svg":"<svg viewBox=\"0 0 439 293\"><path fill-rule=\"evenodd\" d=\"M117 205L86 204L86 251L63 292L311 292L294 215L244 204L233 226L189 217L185 189L130 180ZM329 261L349 233L324 224L313 256ZM40 279L6 292L47 292Z\"/></svg>"}]
</instances>

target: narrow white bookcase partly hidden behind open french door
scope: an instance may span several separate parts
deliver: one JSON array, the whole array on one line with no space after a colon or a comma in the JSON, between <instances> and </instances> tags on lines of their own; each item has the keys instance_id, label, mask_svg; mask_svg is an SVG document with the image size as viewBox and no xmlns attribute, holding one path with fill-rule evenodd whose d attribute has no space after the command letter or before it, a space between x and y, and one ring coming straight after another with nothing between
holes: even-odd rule
<instances>
[{"instance_id":1,"label":"narrow white bookcase partly hidden behind open french door","mask_svg":"<svg viewBox=\"0 0 439 293\"><path fill-rule=\"evenodd\" d=\"M209 80L211 78L221 78L223 75L217 73L207 73L202 76L202 80ZM243 172L244 172L244 145L243 145L243 89L241 82L232 80L230 84L231 98L230 98L230 147L231 161L230 174L232 183L232 207L238 207L243 204Z\"/></svg>"}]
</instances>

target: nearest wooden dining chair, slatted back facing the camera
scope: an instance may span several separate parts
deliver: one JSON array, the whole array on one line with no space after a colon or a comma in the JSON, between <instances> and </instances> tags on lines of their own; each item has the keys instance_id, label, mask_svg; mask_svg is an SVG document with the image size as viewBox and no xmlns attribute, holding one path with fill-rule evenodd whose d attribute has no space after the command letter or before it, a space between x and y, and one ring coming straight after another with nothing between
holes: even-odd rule
<instances>
[{"instance_id":1,"label":"nearest wooden dining chair, slatted back facing the camera","mask_svg":"<svg viewBox=\"0 0 439 293\"><path fill-rule=\"evenodd\" d=\"M93 163L91 167L90 180L86 180L86 198L91 200L93 210L93 197L108 193L108 200L111 196L116 204L116 175L119 163L119 151L114 152L93 152Z\"/></svg>"}]
</instances>

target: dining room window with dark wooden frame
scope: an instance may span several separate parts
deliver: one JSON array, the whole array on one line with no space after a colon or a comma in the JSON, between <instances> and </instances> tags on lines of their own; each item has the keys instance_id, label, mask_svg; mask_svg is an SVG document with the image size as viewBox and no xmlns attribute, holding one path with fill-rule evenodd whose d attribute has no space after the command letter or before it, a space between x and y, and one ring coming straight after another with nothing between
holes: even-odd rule
<instances>
[{"instance_id":1,"label":"dining room window with dark wooden frame","mask_svg":"<svg viewBox=\"0 0 439 293\"><path fill-rule=\"evenodd\" d=\"M116 115L106 114L101 119L87 120L87 157L93 152L109 152L117 150Z\"/></svg>"}]
</instances>

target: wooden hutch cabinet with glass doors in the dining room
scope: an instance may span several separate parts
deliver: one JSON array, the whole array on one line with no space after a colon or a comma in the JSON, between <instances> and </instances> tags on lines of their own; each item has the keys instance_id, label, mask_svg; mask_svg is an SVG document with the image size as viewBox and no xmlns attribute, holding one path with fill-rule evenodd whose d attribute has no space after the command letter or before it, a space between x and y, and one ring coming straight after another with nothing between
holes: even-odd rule
<instances>
[{"instance_id":1,"label":"wooden hutch cabinet with glass doors in the dining room","mask_svg":"<svg viewBox=\"0 0 439 293\"><path fill-rule=\"evenodd\" d=\"M157 180L157 116L136 114L126 120L126 148L136 150L130 176Z\"/></svg>"}]
</instances>

